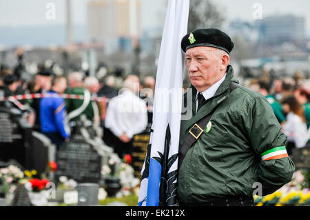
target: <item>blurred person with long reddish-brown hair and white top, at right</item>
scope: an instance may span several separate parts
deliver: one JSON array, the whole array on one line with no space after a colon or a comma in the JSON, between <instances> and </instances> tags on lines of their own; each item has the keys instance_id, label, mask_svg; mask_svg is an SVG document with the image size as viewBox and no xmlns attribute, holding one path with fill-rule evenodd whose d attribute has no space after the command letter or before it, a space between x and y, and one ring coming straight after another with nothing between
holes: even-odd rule
<instances>
[{"instance_id":1,"label":"blurred person with long reddish-brown hair and white top, at right","mask_svg":"<svg viewBox=\"0 0 310 220\"><path fill-rule=\"evenodd\" d=\"M293 95L285 97L281 101L283 112L287 114L286 122L282 127L287 134L288 152L293 148L302 148L307 143L307 124L304 119L302 106Z\"/></svg>"}]
</instances>

